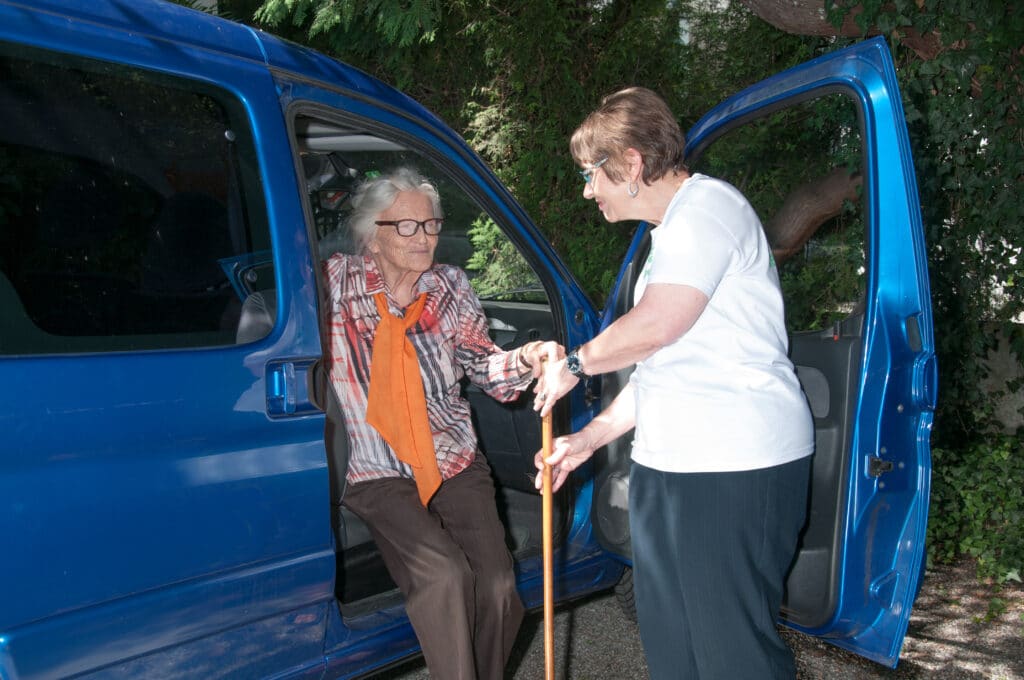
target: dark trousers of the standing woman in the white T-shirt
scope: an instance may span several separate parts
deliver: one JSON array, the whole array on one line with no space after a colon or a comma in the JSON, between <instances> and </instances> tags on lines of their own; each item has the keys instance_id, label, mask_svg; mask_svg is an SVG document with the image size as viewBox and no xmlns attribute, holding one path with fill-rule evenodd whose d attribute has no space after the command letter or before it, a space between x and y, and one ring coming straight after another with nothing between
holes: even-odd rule
<instances>
[{"instance_id":1,"label":"dark trousers of the standing woman in the white T-shirt","mask_svg":"<svg viewBox=\"0 0 1024 680\"><path fill-rule=\"evenodd\" d=\"M775 621L807 515L810 461L716 473L633 465L634 584L651 678L796 677Z\"/></svg>"}]
</instances>

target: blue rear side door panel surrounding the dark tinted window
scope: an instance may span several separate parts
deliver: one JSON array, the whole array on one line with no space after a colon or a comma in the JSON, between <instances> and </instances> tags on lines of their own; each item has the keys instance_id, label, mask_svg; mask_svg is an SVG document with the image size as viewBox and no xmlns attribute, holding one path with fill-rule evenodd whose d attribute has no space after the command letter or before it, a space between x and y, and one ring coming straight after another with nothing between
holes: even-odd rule
<instances>
[{"instance_id":1,"label":"blue rear side door panel surrounding the dark tinted window","mask_svg":"<svg viewBox=\"0 0 1024 680\"><path fill-rule=\"evenodd\" d=\"M233 90L250 104L266 183L294 186L272 80L252 58L261 55L251 34L163 3L137 13L132 5L97 3L93 17L131 31L99 23L65 31L66 14L6 5L0 24L5 39L23 44ZM165 26L205 34L209 45L171 43ZM237 49L210 49L225 32ZM279 270L283 289L308 288L299 197L276 192L267 204L280 256L307 263ZM285 317L287 332L258 353L0 359L8 399L16 399L0 410L9 434L0 530L19 554L0 566L9 677L83 673L197 639L234 649L246 674L323 665L334 554L321 510L322 417L268 419L261 360L318 356L321 346L314 309L294 300Z\"/></svg>"}]
</instances>

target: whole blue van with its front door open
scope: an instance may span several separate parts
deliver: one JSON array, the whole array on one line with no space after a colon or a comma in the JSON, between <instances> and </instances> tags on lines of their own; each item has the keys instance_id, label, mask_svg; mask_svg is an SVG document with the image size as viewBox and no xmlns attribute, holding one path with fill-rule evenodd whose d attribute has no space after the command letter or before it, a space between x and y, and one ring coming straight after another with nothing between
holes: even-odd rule
<instances>
[{"instance_id":1,"label":"whole blue van with its front door open","mask_svg":"<svg viewBox=\"0 0 1024 680\"><path fill-rule=\"evenodd\" d=\"M796 134L820 157L782 173ZM936 365L886 44L751 87L688 140L784 260L817 450L782 623L895 666ZM352 68L159 0L0 0L0 679L351 678L418 653L341 506L346 438L318 368L319 262L350 247L353 182L397 164L438 183L438 259L469 268L499 344L573 346L629 309L646 225L595 308L455 132ZM555 431L623 379L581 385ZM540 426L528 399L467 390L537 607ZM628 591L628 465L616 442L556 496L559 601Z\"/></svg>"}]
</instances>

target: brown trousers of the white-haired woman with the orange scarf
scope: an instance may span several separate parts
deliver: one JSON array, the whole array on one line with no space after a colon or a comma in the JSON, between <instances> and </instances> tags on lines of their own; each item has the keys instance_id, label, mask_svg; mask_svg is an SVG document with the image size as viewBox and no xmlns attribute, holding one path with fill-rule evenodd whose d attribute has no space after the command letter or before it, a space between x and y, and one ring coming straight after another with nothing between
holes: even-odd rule
<instances>
[{"instance_id":1,"label":"brown trousers of the white-haired woman with the orange scarf","mask_svg":"<svg viewBox=\"0 0 1024 680\"><path fill-rule=\"evenodd\" d=\"M344 504L370 527L406 596L437 680L501 680L523 607L482 456L441 483L426 508L412 479L349 484Z\"/></svg>"}]
</instances>

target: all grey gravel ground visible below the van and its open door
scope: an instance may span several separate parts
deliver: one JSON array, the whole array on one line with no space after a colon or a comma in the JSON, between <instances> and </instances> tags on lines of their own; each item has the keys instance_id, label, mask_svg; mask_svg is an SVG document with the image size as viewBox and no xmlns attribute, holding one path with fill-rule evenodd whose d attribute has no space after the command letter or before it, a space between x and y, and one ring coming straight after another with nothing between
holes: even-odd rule
<instances>
[{"instance_id":1,"label":"all grey gravel ground visible below the van and its open door","mask_svg":"<svg viewBox=\"0 0 1024 680\"><path fill-rule=\"evenodd\" d=\"M781 630L797 657L798 680L1024 680L1024 589L981 584L971 562L926 575L896 670ZM623 615L613 595L556 610L555 669L559 680L647 677L636 625ZM423 662L416 661L378 679L429 677ZM523 622L506 680L543 677L543 615L537 612Z\"/></svg>"}]
</instances>

